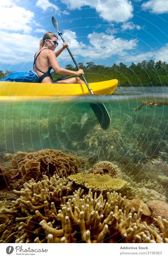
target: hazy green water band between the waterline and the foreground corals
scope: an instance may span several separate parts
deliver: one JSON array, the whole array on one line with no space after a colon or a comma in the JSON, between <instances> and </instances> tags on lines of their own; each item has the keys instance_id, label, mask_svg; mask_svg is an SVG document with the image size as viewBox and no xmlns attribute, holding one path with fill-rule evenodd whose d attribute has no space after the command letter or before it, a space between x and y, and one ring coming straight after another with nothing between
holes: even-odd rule
<instances>
[{"instance_id":1,"label":"hazy green water band between the waterline and the foreground corals","mask_svg":"<svg viewBox=\"0 0 168 258\"><path fill-rule=\"evenodd\" d=\"M148 100L166 103L168 94L1 102L0 150L88 150L99 160L124 155L146 162L167 152L168 143L167 105L144 105L134 111ZM107 131L101 129L89 101L106 106L111 118Z\"/></svg>"}]
</instances>

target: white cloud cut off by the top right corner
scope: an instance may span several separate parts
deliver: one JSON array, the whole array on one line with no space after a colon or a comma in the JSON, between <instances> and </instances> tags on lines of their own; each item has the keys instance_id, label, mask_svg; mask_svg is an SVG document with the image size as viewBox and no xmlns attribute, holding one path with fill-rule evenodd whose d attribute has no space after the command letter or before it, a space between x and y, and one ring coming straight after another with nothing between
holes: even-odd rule
<instances>
[{"instance_id":1,"label":"white cloud cut off by the top right corner","mask_svg":"<svg viewBox=\"0 0 168 258\"><path fill-rule=\"evenodd\" d=\"M143 2L143 8L151 10L156 14L168 13L168 1L166 0L150 0Z\"/></svg>"}]
</instances>

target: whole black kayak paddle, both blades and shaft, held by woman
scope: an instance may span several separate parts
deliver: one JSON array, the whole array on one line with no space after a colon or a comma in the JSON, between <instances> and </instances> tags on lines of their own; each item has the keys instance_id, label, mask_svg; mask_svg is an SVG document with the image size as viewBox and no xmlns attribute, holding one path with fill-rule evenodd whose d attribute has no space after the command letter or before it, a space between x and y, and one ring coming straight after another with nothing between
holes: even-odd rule
<instances>
[{"instance_id":1,"label":"whole black kayak paddle, both blades and shaft, held by woman","mask_svg":"<svg viewBox=\"0 0 168 258\"><path fill-rule=\"evenodd\" d=\"M58 35L61 37L62 41L65 42L63 36L62 36L62 33L59 31L58 29L58 22L57 20L55 19L54 16L52 16L52 24L54 26L54 28L57 30L58 32ZM77 62L75 61L70 49L68 46L66 46L72 60L74 61L74 64L76 65L76 68L79 70L79 66L77 65ZM91 90L91 88L89 87L89 84L87 83L85 77L83 74L81 74L81 77L82 79L84 80L84 83L86 84L87 88L88 88L88 91L90 92L90 94L94 94L93 91ZM94 114L96 115L99 123L100 123L100 126L106 130L109 125L110 125L110 116L109 116L109 113L107 112L107 109L105 108L104 104L103 103L89 103Z\"/></svg>"}]
</instances>

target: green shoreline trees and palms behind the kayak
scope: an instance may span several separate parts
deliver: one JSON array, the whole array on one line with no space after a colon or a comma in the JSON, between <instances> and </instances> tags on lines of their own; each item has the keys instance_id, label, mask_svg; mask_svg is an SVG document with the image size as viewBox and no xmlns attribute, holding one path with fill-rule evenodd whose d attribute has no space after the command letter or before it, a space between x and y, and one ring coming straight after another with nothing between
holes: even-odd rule
<instances>
[{"instance_id":1,"label":"green shoreline trees and palms behind the kayak","mask_svg":"<svg viewBox=\"0 0 168 258\"><path fill-rule=\"evenodd\" d=\"M168 64L161 60L143 60L137 64L131 63L128 67L124 63L119 65L113 64L111 67L105 64L95 65L93 62L87 62L86 66L83 63L78 63L80 69L84 70L84 75L88 83L108 81L117 79L121 86L168 86ZM72 64L67 64L66 69L76 71L76 67ZM12 71L0 71L0 78L8 76ZM51 72L53 80L61 77L61 74ZM75 76L68 76L75 77Z\"/></svg>"}]
</instances>

